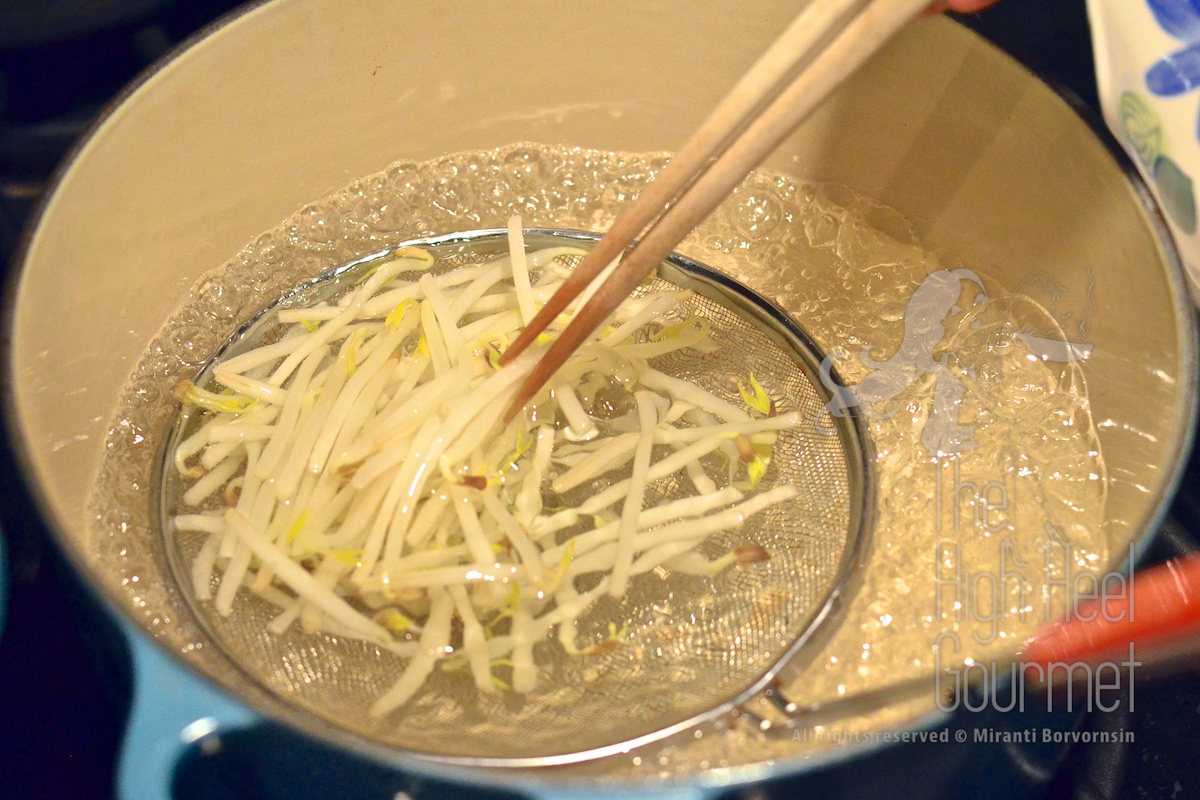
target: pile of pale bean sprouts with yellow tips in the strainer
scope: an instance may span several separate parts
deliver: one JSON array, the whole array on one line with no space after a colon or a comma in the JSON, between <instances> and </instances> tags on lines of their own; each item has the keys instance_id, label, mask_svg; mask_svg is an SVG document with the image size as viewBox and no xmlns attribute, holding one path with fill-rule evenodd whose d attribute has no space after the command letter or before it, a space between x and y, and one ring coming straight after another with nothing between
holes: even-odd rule
<instances>
[{"instance_id":1,"label":"pile of pale bean sprouts with yellow tips in the strainer","mask_svg":"<svg viewBox=\"0 0 1200 800\"><path fill-rule=\"evenodd\" d=\"M185 381L173 523L208 535L191 564L197 599L229 615L245 588L278 607L275 633L299 625L403 656L371 708L383 716L439 667L469 668L480 692L524 693L536 643L611 650L623 632L581 644L575 622L641 573L769 558L697 548L794 497L757 485L776 432L799 420L754 375L738 404L650 365L715 347L685 290L628 300L504 422L541 348L504 368L498 357L568 273L559 257L581 253L526 253L518 218L509 254L487 264L434 273L430 252L401 248L342 297L276 312L283 333L216 365L209 389ZM648 504L668 479L695 493Z\"/></svg>"}]
</instances>

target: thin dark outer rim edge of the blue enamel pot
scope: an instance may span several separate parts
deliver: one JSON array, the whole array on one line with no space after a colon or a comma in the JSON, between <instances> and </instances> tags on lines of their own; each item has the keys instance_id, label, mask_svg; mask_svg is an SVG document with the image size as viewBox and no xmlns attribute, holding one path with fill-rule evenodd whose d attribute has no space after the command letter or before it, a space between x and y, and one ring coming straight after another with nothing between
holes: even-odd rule
<instances>
[{"instance_id":1,"label":"thin dark outer rim edge of the blue enamel pot","mask_svg":"<svg viewBox=\"0 0 1200 800\"><path fill-rule=\"evenodd\" d=\"M96 119L88 126L74 145L72 145L71 150L55 168L53 175L47 182L46 191L35 205L20 239L18 240L8 275L6 276L4 284L0 285L0 405L2 405L4 432L7 434L10 449L18 467L18 489L23 489L26 497L32 499L32 505L37 512L37 521L41 522L49 531L49 539L53 541L54 547L66 557L71 569L80 577L86 591L100 597L102 606L106 607L109 614L137 627L138 633L140 633L145 639L149 639L160 654L167 655L173 664L186 672L191 679L202 681L206 686L233 697L238 703L247 705L265 720L282 723L302 735L312 736L328 746L361 754L377 763L407 772L425 775L434 778L468 782L476 786L502 788L515 792L532 792L535 794L550 790L572 792L586 788L610 792L644 790L648 787L664 789L721 789L755 783L767 778L780 778L799 772L816 771L822 768L828 768L830 765L869 756L870 753L884 747L898 745L898 741L883 741L882 738L875 738L869 741L850 742L838 747L829 747L814 754L790 758L787 760L746 764L742 766L697 772L686 777L672 777L666 780L602 778L601 781L596 781L595 778L578 776L546 776L520 768L480 768L439 763L437 760L422 758L416 754L398 751L394 747L371 741L342 728L328 724L312 724L312 721L317 720L317 717L282 700L269 702L272 699L271 696L262 690L257 690L257 687L254 687L254 696L248 696L248 693L241 692L234 694L208 675L194 669L175 650L154 637L149 627L140 619L134 618L127 610L124 597L113 587L109 587L103 582L91 579L88 559L62 533L66 527L58 523L48 498L31 477L34 475L32 457L23 435L16 403L16 372L12 342L16 326L18 288L28 266L28 259L34 239L41 228L41 223L50 206L50 203L54 200L66 176L71 173L80 156L91 144L92 139L108 125L115 113L127 100L130 100L130 97L140 91L154 78L156 78L158 73L174 64L180 56L188 53L193 47L208 40L210 36L218 34L226 28L240 22L244 17L262 11L271 2L272 0L251 0L247 5L240 6L205 25L175 46L158 61L143 70L143 72L134 78L133 82L125 86L103 107ZM1004 53L966 25L953 20L940 22L937 24L953 24L962 29L966 35L976 37L976 40L983 43L984 47L998 52L1004 59L1025 72L1030 78L1042 83L1054 95L1062 100L1068 109L1070 109L1087 126L1092 136L1099 139L1109 152L1109 156L1115 162L1117 169L1123 173L1128 185L1141 205L1145 219L1151 227L1153 237L1158 243L1162 263L1166 272L1165 277L1168 285L1172 289L1171 311L1178 320L1177 348L1180 353L1180 374L1176 378L1180 386L1190 386L1193 390L1183 390L1181 399L1176 404L1176 425L1174 427L1182 431L1183 435L1177 437L1175 441L1171 443L1170 458L1164 459L1168 468L1162 483L1162 491L1156 500L1146 509L1142 515L1142 519L1140 521L1141 524L1132 525L1133 529L1141 531L1134 540L1132 540L1134 543L1133 560L1140 561L1145 557L1147 548L1157 535L1159 525L1166 517L1171 498L1178 489L1184 474L1184 463L1192 450L1196 429L1198 399L1194 387L1196 385L1198 345L1200 345L1200 342L1198 342L1196 308L1192 301L1187 277L1174 237L1170 234L1165 217L1163 216L1158 203L1133 161L1129 158L1128 154L1126 154L1126 151L1121 148L1111 131L1109 131L1109 128L1104 125L1103 120L1091 108L1088 108L1082 100L1075 95L1075 92L1060 80L1046 78L1037 71L1031 70L1028 66ZM1129 559L1124 559L1120 566L1126 570L1132 570L1133 567ZM137 681L137 675L133 676L133 680ZM264 699L268 702L264 702ZM926 729L932 727L938 721L948 721L950 715L934 710L923 717L910 721L900 729ZM553 770L553 768L550 769Z\"/></svg>"}]
</instances>

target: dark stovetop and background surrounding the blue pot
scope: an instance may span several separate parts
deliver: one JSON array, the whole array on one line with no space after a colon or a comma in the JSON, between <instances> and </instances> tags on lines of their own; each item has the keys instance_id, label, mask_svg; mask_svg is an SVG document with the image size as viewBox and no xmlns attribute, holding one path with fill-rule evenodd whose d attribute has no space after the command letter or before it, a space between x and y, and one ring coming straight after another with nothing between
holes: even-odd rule
<instances>
[{"instance_id":1,"label":"dark stovetop and background surrounding the blue pot","mask_svg":"<svg viewBox=\"0 0 1200 800\"><path fill-rule=\"evenodd\" d=\"M221 14L233 0L0 0L0 264L55 166L100 109L143 68ZM1002 0L961 22L1050 83L1097 108L1084 0ZM2 435L2 434L0 434ZM0 449L0 523L7 559L7 619L0 626L0 796L112 798L115 763L137 675L114 624L56 557ZM1200 546L1200 461L1193 459L1152 553ZM1049 799L1200 796L1200 679L1184 673L1138 686L1136 710L1081 718L1081 732L1130 732L1088 742L1061 764L1013 763L1033 795ZM1130 739L1130 736L1121 736ZM1088 736L1080 736L1088 739ZM1103 736L1097 736L1103 739ZM1014 750L1012 759L1020 758ZM1026 780L1027 778L1027 780ZM1002 796L1004 787L990 787ZM859 792L863 788L859 787ZM959 796L962 787L931 787ZM793 796L787 778L744 796ZM223 739L218 753L188 752L175 798L498 796L406 776L270 724ZM156 800L156 799L148 799Z\"/></svg>"}]
</instances>

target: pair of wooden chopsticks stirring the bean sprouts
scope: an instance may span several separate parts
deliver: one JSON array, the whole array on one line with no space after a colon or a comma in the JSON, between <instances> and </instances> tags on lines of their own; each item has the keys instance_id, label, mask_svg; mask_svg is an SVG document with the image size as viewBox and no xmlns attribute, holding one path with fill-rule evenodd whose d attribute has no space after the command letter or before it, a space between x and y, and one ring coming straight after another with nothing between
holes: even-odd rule
<instances>
[{"instance_id":1,"label":"pair of wooden chopsticks stirring the bean sprouts","mask_svg":"<svg viewBox=\"0 0 1200 800\"><path fill-rule=\"evenodd\" d=\"M511 421L570 355L684 236L720 205L821 102L929 5L929 0L812 0L624 209L500 357L516 359L647 225L575 314L509 407Z\"/></svg>"}]
</instances>

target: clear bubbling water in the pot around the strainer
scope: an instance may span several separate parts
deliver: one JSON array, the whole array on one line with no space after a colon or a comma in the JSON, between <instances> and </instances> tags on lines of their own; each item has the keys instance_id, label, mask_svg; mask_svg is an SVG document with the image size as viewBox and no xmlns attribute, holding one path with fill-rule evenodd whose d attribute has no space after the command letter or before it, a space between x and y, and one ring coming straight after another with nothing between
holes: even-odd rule
<instances>
[{"instance_id":1,"label":"clear bubbling water in the pot around the strainer","mask_svg":"<svg viewBox=\"0 0 1200 800\"><path fill-rule=\"evenodd\" d=\"M172 646L203 656L186 606L146 579L161 572L149 521L151 464L174 413L172 389L241 320L336 264L416 236L503 227L514 211L529 227L604 230L665 161L522 144L400 163L304 207L206 276L134 369L94 492L95 554L110 572L118 565L114 581L130 606ZM943 638L941 666L1009 654L1062 607L1063 593L1043 600L1048 576L1108 566L1105 473L1082 372L1038 359L1020 337L1061 336L1066 314L1049 313L1022 288L996 285L982 267L950 273L972 265L922 247L906 219L868 198L782 175L752 175L679 251L790 312L835 354L850 384L904 377L899 390L866 407L878 510L868 569L840 627L791 670L788 696L814 702L931 674L943 631L961 646L952 652ZM934 273L948 276L943 283L954 289L943 285L942 294L953 297L937 319L918 324L910 301ZM1086 335L1086 312L1070 321L1068 335ZM931 434L938 431L941 438ZM996 579L989 585L979 575ZM329 669L288 668L313 680ZM888 709L838 730L896 724L930 705ZM571 769L688 772L833 741L772 739L718 723Z\"/></svg>"}]
</instances>

